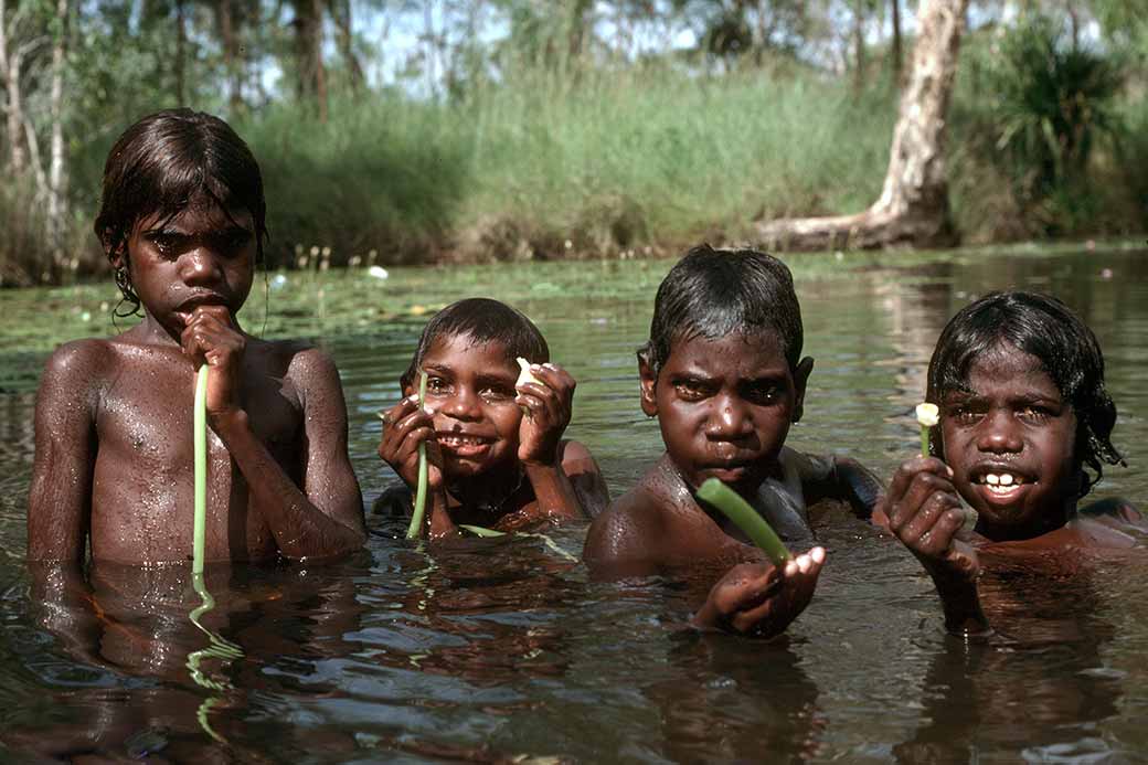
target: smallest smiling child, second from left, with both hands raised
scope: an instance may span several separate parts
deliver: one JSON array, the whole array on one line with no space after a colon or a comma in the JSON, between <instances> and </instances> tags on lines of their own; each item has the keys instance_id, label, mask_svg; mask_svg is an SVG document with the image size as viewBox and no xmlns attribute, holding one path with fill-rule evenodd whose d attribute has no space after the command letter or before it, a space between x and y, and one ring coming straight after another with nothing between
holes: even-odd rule
<instances>
[{"instance_id":1,"label":"smallest smiling child, second from left, with both hands raised","mask_svg":"<svg viewBox=\"0 0 1148 765\"><path fill-rule=\"evenodd\" d=\"M530 363L534 381L519 380L517 358ZM597 515L610 501L598 465L584 446L563 439L574 378L549 361L538 327L496 300L460 300L435 314L400 380L405 397L383 415L379 456L404 485L375 509L410 515L426 443L432 539L459 525L511 531Z\"/></svg>"}]
</instances>

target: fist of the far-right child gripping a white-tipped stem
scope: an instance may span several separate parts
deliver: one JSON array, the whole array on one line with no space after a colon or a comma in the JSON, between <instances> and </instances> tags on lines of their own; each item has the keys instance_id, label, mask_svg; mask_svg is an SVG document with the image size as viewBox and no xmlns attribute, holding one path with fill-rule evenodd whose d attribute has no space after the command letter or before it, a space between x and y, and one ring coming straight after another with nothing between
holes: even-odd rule
<instances>
[{"instance_id":1,"label":"fist of the far-right child gripping a white-tipped stem","mask_svg":"<svg viewBox=\"0 0 1148 765\"><path fill-rule=\"evenodd\" d=\"M889 530L934 580L972 581L980 564L972 547L956 538L967 515L952 477L953 471L940 459L914 457L893 473L877 509L889 518Z\"/></svg>"}]
</instances>

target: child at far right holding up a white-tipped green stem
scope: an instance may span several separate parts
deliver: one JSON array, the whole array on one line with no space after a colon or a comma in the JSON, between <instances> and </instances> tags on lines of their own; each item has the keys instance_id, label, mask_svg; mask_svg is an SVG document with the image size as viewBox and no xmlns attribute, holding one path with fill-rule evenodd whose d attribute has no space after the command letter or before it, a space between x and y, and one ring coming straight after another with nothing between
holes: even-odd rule
<instances>
[{"instance_id":1,"label":"child at far right holding up a white-tipped green stem","mask_svg":"<svg viewBox=\"0 0 1148 765\"><path fill-rule=\"evenodd\" d=\"M928 386L940 410L932 456L897 470L875 517L932 577L951 632L988 629L976 548L1127 548L1130 532L1146 531L1122 500L1078 508L1103 464L1123 459L1100 345L1056 299L994 293L959 311L937 340ZM974 518L974 533L959 533Z\"/></svg>"}]
</instances>

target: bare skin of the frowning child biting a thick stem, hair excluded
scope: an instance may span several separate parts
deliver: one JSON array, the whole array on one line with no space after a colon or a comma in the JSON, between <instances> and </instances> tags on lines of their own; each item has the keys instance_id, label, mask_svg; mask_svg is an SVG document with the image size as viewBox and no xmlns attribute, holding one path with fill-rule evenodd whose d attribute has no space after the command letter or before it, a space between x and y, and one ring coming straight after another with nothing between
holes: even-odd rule
<instances>
[{"instance_id":1,"label":"bare skin of the frowning child biting a thick stem, hair excluded","mask_svg":"<svg viewBox=\"0 0 1148 765\"><path fill-rule=\"evenodd\" d=\"M584 556L595 573L750 563L734 565L716 582L695 624L765 636L782 632L813 596L824 550L815 548L778 572L693 492L718 478L775 525L796 517L809 539L809 496L876 501L879 482L855 463L784 447L812 369L812 358L791 369L770 332L678 341L657 374L639 363L642 410L658 417L666 455L591 525Z\"/></svg>"}]
</instances>

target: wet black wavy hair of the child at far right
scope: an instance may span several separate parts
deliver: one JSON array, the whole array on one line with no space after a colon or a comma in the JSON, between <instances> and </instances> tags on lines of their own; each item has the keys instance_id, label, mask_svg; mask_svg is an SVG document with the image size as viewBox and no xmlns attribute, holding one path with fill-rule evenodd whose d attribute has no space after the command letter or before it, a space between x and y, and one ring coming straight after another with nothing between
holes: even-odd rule
<instances>
[{"instance_id":1,"label":"wet black wavy hair of the child at far right","mask_svg":"<svg viewBox=\"0 0 1148 765\"><path fill-rule=\"evenodd\" d=\"M1110 436L1116 404L1104 388L1104 356L1092 330L1055 298L1033 292L994 292L949 319L929 361L925 400L940 404L952 391L971 393L969 370L985 353L1011 346L1040 362L1077 417L1073 455L1081 471L1080 496L1101 479L1103 463L1123 465ZM940 445L933 442L939 456Z\"/></svg>"}]
</instances>

